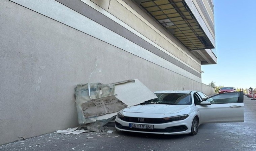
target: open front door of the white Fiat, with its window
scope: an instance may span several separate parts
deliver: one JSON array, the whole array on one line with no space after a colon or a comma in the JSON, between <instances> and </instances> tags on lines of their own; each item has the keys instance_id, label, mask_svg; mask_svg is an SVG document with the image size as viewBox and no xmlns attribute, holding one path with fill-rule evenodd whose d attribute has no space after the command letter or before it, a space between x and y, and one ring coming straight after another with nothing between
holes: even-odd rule
<instances>
[{"instance_id":1,"label":"open front door of the white Fiat, with its window","mask_svg":"<svg viewBox=\"0 0 256 151\"><path fill-rule=\"evenodd\" d=\"M243 92L217 94L196 106L200 113L199 123L244 122Z\"/></svg>"}]
</instances>

